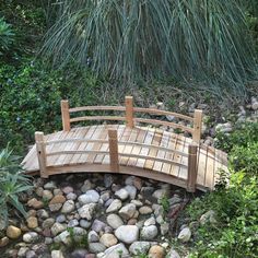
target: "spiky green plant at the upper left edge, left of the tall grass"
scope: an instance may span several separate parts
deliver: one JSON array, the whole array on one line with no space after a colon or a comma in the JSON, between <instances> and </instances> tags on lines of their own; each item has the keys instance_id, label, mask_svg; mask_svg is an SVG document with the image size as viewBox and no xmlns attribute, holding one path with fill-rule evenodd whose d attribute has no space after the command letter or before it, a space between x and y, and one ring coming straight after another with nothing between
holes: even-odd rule
<instances>
[{"instance_id":1,"label":"spiky green plant at the upper left edge, left of the tall grass","mask_svg":"<svg viewBox=\"0 0 258 258\"><path fill-rule=\"evenodd\" d=\"M0 17L0 56L9 50L14 42L14 32L3 17Z\"/></svg>"}]
</instances>

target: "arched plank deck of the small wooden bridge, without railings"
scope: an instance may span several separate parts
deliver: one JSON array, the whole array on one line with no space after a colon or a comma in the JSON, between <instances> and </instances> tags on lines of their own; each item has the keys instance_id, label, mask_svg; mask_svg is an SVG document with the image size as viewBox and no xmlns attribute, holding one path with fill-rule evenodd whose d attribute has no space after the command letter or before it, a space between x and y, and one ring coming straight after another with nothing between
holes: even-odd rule
<instances>
[{"instance_id":1,"label":"arched plank deck of the small wooden bridge, without railings","mask_svg":"<svg viewBox=\"0 0 258 258\"><path fill-rule=\"evenodd\" d=\"M161 129L124 125L78 127L45 136L48 175L79 171L113 172L109 167L108 129L117 130L120 173L186 187L188 146L192 139ZM39 172L36 145L22 164L28 173ZM213 189L219 178L218 171L226 169L226 155L214 148L200 145L197 164L197 188Z\"/></svg>"}]
</instances>

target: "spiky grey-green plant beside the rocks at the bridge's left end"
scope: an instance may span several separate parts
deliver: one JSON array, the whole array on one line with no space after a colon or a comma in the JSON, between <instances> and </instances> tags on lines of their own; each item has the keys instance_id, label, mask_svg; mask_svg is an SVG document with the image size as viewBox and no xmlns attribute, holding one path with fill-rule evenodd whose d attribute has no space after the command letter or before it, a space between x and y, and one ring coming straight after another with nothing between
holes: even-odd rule
<instances>
[{"instance_id":1,"label":"spiky grey-green plant beside the rocks at the bridge's left end","mask_svg":"<svg viewBox=\"0 0 258 258\"><path fill-rule=\"evenodd\" d=\"M31 189L32 185L17 164L9 148L0 152L0 230L8 225L10 209L14 208L26 216L24 207L19 201L19 195Z\"/></svg>"}]
</instances>

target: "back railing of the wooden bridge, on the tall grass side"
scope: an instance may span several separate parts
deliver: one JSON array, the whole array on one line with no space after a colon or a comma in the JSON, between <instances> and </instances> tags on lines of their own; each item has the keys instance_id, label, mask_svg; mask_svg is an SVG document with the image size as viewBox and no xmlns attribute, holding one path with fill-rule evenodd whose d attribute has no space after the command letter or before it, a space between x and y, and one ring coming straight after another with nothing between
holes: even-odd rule
<instances>
[{"instance_id":1,"label":"back railing of the wooden bridge, on the tall grass side","mask_svg":"<svg viewBox=\"0 0 258 258\"><path fill-rule=\"evenodd\" d=\"M73 118L71 118L70 116L71 114L74 113L90 112L90 110L122 112L124 116L80 116ZM139 113L156 115L156 116L173 116L180 120L185 120L192 124L192 127L161 119L137 117L137 114ZM82 106L82 107L70 108L68 101L61 101L61 114L62 114L62 127L64 131L69 131L71 129L72 122L89 121L89 120L114 120L114 121L126 121L126 125L129 128L133 128L137 122L142 122L142 124L160 125L160 126L181 129L183 131L189 132L192 136L192 140L195 142L199 142L201 138L202 110L196 109L194 117L190 117L173 112L161 110L157 108L134 107L132 96L126 96L125 106Z\"/></svg>"}]
</instances>

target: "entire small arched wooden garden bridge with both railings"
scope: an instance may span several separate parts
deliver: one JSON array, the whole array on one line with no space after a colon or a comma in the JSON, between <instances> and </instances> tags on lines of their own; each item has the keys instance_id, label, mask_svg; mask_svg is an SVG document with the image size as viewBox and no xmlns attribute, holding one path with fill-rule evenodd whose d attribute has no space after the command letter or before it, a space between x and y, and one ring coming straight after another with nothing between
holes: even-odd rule
<instances>
[{"instance_id":1,"label":"entire small arched wooden garden bridge with both railings","mask_svg":"<svg viewBox=\"0 0 258 258\"><path fill-rule=\"evenodd\" d=\"M96 110L125 115L74 116ZM133 107L132 97L127 96L125 106L70 108L68 101L61 101L61 113L62 131L47 136L35 132L36 143L22 162L28 174L39 172L44 178L77 172L129 174L171 183L194 192L196 188L212 190L219 179L219 169L226 169L226 154L200 143L201 110L195 110L194 117L189 117L155 108ZM173 116L179 122L164 120L166 116ZM72 122L89 120L115 120L120 125L71 129ZM148 126L141 126L143 124ZM188 132L191 138L175 133L176 130L171 128Z\"/></svg>"}]
</instances>

